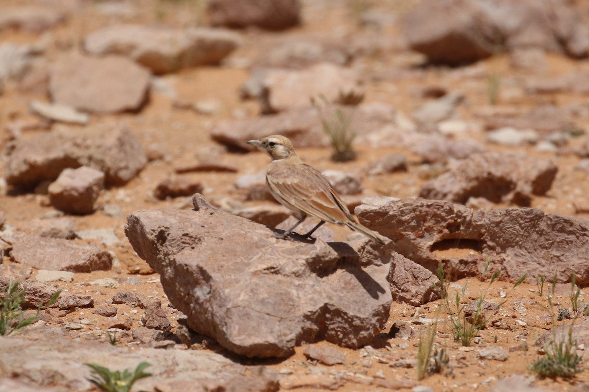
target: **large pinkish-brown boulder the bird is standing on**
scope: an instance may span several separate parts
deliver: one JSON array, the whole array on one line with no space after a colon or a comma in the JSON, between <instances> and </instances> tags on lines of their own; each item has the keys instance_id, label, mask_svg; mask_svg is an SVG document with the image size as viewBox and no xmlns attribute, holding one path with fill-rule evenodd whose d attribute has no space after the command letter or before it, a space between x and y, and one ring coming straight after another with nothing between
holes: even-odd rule
<instances>
[{"instance_id":1,"label":"large pinkish-brown boulder the bird is standing on","mask_svg":"<svg viewBox=\"0 0 589 392\"><path fill-rule=\"evenodd\" d=\"M359 347L382 330L391 304L387 246L276 239L201 195L193 201L190 211L137 211L125 226L191 329L249 357L289 356L319 339Z\"/></svg>"}]
</instances>

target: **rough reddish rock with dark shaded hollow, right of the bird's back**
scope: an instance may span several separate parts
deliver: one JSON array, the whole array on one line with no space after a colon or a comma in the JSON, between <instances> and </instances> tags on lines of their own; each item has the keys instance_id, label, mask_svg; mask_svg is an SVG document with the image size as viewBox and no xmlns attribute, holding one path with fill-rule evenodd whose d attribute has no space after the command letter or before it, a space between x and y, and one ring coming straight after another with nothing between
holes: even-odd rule
<instances>
[{"instance_id":1,"label":"rough reddish rock with dark shaded hollow, right of the bird's back","mask_svg":"<svg viewBox=\"0 0 589 392\"><path fill-rule=\"evenodd\" d=\"M495 203L527 206L532 195L544 195L550 189L556 173L557 166L548 159L502 152L474 154L426 182L419 196L457 203L485 197Z\"/></svg>"}]
</instances>

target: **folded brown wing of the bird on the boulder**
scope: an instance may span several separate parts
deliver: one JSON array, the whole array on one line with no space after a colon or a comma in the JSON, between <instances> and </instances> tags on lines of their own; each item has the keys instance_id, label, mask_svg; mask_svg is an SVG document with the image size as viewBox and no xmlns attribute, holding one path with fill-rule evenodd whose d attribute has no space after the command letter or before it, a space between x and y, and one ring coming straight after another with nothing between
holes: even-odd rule
<instances>
[{"instance_id":1,"label":"folded brown wing of the bird on the boulder","mask_svg":"<svg viewBox=\"0 0 589 392\"><path fill-rule=\"evenodd\" d=\"M281 165L267 172L267 182L284 201L330 223L355 221L327 179L313 167Z\"/></svg>"}]
</instances>

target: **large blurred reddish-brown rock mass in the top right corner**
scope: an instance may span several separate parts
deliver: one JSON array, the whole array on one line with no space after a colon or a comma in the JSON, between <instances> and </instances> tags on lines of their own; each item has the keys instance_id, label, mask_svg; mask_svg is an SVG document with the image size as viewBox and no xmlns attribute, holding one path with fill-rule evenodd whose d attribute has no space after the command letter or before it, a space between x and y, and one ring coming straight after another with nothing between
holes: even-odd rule
<instances>
[{"instance_id":1,"label":"large blurred reddish-brown rock mass in the top right corner","mask_svg":"<svg viewBox=\"0 0 589 392\"><path fill-rule=\"evenodd\" d=\"M589 39L580 19L563 0L450 0L416 6L403 27L409 46L429 61L459 65L491 56L498 39L508 51L542 48L586 57Z\"/></svg>"}]
</instances>

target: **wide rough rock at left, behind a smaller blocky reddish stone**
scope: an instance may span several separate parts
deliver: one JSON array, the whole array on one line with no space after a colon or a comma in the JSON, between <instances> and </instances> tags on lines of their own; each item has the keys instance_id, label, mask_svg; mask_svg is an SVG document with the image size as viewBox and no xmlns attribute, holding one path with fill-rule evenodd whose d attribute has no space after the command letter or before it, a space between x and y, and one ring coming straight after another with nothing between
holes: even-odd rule
<instances>
[{"instance_id":1,"label":"wide rough rock at left, behind a smaller blocky reddish stone","mask_svg":"<svg viewBox=\"0 0 589 392\"><path fill-rule=\"evenodd\" d=\"M145 163L147 158L133 133L125 126L108 124L19 139L5 173L9 185L34 187L57 179L68 167L89 166L104 173L105 185L122 185Z\"/></svg>"}]
</instances>

